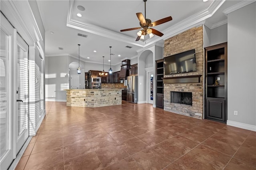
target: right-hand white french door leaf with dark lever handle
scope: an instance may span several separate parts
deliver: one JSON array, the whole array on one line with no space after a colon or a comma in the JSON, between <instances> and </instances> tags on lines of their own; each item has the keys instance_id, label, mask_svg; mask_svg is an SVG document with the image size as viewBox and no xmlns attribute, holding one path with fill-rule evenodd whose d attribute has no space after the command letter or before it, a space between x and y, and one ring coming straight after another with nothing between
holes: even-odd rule
<instances>
[{"instance_id":1,"label":"right-hand white french door leaf with dark lever handle","mask_svg":"<svg viewBox=\"0 0 256 170\"><path fill-rule=\"evenodd\" d=\"M16 154L28 138L28 45L17 35ZM36 80L37 81L37 80Z\"/></svg>"}]
</instances>

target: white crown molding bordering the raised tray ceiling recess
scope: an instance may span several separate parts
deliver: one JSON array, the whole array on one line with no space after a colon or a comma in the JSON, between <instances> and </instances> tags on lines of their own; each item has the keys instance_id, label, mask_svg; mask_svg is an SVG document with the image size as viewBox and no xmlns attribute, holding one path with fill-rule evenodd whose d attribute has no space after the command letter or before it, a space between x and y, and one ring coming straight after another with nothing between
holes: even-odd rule
<instances>
[{"instance_id":1,"label":"white crown molding bordering the raised tray ceiling recess","mask_svg":"<svg viewBox=\"0 0 256 170\"><path fill-rule=\"evenodd\" d=\"M70 4L68 8L67 26L78 29L78 30L90 32L92 34L104 36L106 38L111 38L121 42L129 43L132 45L137 45L137 46L143 47L144 49L145 47L146 48L151 47L152 44L155 44L160 40L166 40L192 27L200 26L204 24L205 20L211 17L224 2L225 0L222 0L222 1L214 0L206 10L203 10L202 12L198 12L197 14L194 14L186 18L185 20L182 20L181 22L175 24L174 26L162 31L164 33L164 36L162 37L154 36L153 38L150 38L144 42L140 42L140 41L134 42L134 38L131 38L129 36L125 36L123 34L107 30L105 28L100 28L92 24L86 24L86 23L82 23L72 19L72 8L73 8L74 0L70 0ZM163 45L159 45L159 44L158 46L163 47ZM139 51L142 51L142 50L139 50Z\"/></svg>"}]
</instances>

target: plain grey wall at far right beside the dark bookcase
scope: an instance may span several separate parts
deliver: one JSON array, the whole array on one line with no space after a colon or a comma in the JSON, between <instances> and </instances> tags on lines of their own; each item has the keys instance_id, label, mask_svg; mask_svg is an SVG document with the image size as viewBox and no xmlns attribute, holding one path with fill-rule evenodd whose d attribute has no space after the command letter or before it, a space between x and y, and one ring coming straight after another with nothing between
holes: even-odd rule
<instances>
[{"instance_id":1,"label":"plain grey wall at far right beside the dark bookcase","mask_svg":"<svg viewBox=\"0 0 256 170\"><path fill-rule=\"evenodd\" d=\"M256 2L228 14L228 125L256 131ZM238 111L238 115L234 115ZM246 124L246 125L243 125Z\"/></svg>"}]
</instances>

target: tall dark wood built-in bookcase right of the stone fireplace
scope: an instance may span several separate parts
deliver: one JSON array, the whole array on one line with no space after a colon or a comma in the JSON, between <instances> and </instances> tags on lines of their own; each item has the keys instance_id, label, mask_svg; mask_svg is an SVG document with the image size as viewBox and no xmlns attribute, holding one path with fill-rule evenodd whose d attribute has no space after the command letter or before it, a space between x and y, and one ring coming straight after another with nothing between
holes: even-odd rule
<instances>
[{"instance_id":1,"label":"tall dark wood built-in bookcase right of the stone fireplace","mask_svg":"<svg viewBox=\"0 0 256 170\"><path fill-rule=\"evenodd\" d=\"M227 43L205 48L205 118L227 121ZM214 85L216 80L218 84Z\"/></svg>"}]
</instances>

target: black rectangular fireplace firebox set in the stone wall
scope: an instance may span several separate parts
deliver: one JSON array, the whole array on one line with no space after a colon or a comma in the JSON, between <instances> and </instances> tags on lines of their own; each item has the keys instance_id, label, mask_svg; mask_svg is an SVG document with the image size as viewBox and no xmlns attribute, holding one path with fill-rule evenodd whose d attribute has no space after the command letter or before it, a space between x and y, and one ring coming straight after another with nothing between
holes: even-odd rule
<instances>
[{"instance_id":1,"label":"black rectangular fireplace firebox set in the stone wall","mask_svg":"<svg viewBox=\"0 0 256 170\"><path fill-rule=\"evenodd\" d=\"M192 106L192 93L191 92L177 92L171 91L171 103L180 103Z\"/></svg>"}]
</instances>

